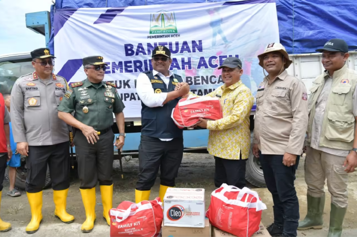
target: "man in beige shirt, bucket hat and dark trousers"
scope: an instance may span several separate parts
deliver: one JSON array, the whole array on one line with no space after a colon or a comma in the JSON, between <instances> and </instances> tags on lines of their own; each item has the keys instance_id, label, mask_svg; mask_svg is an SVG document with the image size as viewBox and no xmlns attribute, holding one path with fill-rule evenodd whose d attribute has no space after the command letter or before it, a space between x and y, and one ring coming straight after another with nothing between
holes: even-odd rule
<instances>
[{"instance_id":1,"label":"man in beige shirt, bucket hat and dark trousers","mask_svg":"<svg viewBox=\"0 0 357 237\"><path fill-rule=\"evenodd\" d=\"M288 75L292 61L282 44L270 43L258 58L268 76L257 92L253 154L273 196L274 223L267 229L271 236L296 236L299 202L294 180L308 123L307 90Z\"/></svg>"}]
</instances>

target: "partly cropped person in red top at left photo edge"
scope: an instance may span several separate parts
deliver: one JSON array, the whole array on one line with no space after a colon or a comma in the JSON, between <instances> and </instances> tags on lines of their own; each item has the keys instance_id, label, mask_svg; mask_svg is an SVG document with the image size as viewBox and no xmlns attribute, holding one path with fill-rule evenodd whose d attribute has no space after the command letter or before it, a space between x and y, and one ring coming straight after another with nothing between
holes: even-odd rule
<instances>
[{"instance_id":1,"label":"partly cropped person in red top at left photo edge","mask_svg":"<svg viewBox=\"0 0 357 237\"><path fill-rule=\"evenodd\" d=\"M1 85L0 85L1 86ZM3 94L0 93L0 202L3 194L3 181L5 176L6 162L11 158L10 147L10 114L5 106ZM11 224L0 219L0 232L11 230Z\"/></svg>"}]
</instances>

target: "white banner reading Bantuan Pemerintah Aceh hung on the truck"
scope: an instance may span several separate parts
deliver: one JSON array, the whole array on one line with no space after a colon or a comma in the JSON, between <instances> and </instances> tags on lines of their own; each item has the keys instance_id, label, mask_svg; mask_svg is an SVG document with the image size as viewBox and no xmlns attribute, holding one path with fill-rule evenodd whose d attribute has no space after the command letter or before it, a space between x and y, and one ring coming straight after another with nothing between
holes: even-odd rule
<instances>
[{"instance_id":1,"label":"white banner reading Bantuan Pemerintah Aceh hung on the truck","mask_svg":"<svg viewBox=\"0 0 357 237\"><path fill-rule=\"evenodd\" d=\"M223 85L217 68L225 58L239 57L241 80L255 96L264 77L257 55L279 42L273 0L65 9L55 14L54 34L56 73L83 81L82 58L103 56L104 80L116 84L127 118L140 117L136 79L152 69L157 45L170 49L170 70L199 96Z\"/></svg>"}]
</instances>

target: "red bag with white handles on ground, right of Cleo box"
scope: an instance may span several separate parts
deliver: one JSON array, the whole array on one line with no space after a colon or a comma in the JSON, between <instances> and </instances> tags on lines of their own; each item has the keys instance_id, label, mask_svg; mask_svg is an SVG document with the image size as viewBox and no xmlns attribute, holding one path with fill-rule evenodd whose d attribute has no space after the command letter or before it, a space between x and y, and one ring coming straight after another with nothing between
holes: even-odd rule
<instances>
[{"instance_id":1,"label":"red bag with white handles on ground, right of Cleo box","mask_svg":"<svg viewBox=\"0 0 357 237\"><path fill-rule=\"evenodd\" d=\"M222 186L211 194L206 217L218 229L239 237L250 237L259 231L262 210L267 206L258 193L244 187Z\"/></svg>"}]
</instances>

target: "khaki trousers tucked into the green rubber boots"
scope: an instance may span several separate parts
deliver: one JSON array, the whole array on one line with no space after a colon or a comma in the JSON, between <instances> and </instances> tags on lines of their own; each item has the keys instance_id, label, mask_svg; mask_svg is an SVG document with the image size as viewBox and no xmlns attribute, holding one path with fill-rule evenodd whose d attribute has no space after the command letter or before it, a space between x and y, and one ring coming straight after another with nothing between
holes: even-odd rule
<instances>
[{"instance_id":1,"label":"khaki trousers tucked into the green rubber boots","mask_svg":"<svg viewBox=\"0 0 357 237\"><path fill-rule=\"evenodd\" d=\"M308 147L305 158L305 182L308 184L308 195L319 198L325 193L327 178L331 202L338 207L347 207L348 174L342 167L346 157L331 155Z\"/></svg>"}]
</instances>

